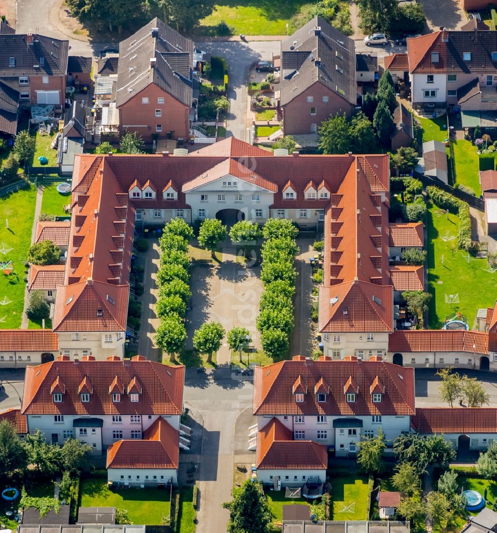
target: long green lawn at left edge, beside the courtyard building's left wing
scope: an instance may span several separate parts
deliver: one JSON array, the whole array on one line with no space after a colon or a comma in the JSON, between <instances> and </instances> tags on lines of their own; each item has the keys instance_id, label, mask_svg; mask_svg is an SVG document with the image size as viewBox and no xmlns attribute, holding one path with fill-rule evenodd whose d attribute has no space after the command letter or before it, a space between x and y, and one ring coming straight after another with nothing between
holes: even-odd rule
<instances>
[{"instance_id":1,"label":"long green lawn at left edge, beside the courtyard building's left wing","mask_svg":"<svg viewBox=\"0 0 497 533\"><path fill-rule=\"evenodd\" d=\"M0 328L19 328L21 325L24 306L24 292L26 283L23 281L29 246L31 245L31 230L35 215L36 191L34 187L13 192L0 198L0 247L12 248L4 255L0 254L0 261L11 260L14 271L5 276L0 270L0 301L11 300L11 303L0 306ZM5 219L9 220L9 229Z\"/></svg>"}]
</instances>

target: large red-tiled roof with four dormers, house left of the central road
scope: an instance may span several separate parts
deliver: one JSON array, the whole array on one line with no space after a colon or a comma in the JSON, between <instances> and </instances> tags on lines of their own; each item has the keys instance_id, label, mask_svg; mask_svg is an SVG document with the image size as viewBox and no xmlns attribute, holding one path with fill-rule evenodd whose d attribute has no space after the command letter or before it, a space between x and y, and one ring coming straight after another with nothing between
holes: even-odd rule
<instances>
[{"instance_id":1,"label":"large red-tiled roof with four dormers, house left of the central road","mask_svg":"<svg viewBox=\"0 0 497 533\"><path fill-rule=\"evenodd\" d=\"M178 415L182 412L184 366L166 366L152 361L52 361L26 368L22 414L35 415ZM110 386L118 377L142 384L140 401L128 394L112 402ZM93 385L89 402L82 402L78 387L87 377ZM58 381L65 387L63 401L54 403L50 389Z\"/></svg>"}]
</instances>

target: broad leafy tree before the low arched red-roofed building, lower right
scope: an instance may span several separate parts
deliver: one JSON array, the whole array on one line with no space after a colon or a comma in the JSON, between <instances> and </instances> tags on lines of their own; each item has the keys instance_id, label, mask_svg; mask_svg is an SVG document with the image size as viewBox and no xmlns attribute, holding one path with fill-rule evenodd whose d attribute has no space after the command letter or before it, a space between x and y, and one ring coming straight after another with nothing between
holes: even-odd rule
<instances>
[{"instance_id":1,"label":"broad leafy tree before the low arched red-roofed building, lower right","mask_svg":"<svg viewBox=\"0 0 497 533\"><path fill-rule=\"evenodd\" d=\"M411 463L421 475L430 465L446 465L455 458L455 451L443 435L423 438L419 434L403 433L394 441L394 452L400 463Z\"/></svg>"}]
</instances>

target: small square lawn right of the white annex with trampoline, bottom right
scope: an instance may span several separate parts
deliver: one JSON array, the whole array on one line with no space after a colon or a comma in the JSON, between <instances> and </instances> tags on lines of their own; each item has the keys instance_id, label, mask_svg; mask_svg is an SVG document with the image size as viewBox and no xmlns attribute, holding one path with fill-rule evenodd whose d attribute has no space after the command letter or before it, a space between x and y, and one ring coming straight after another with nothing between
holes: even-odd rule
<instances>
[{"instance_id":1,"label":"small square lawn right of the white annex with trampoline, bottom right","mask_svg":"<svg viewBox=\"0 0 497 533\"><path fill-rule=\"evenodd\" d=\"M330 520L368 520L368 478L349 475L331 479L333 511Z\"/></svg>"}]
</instances>

